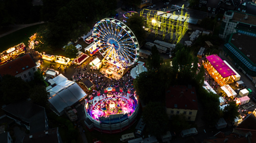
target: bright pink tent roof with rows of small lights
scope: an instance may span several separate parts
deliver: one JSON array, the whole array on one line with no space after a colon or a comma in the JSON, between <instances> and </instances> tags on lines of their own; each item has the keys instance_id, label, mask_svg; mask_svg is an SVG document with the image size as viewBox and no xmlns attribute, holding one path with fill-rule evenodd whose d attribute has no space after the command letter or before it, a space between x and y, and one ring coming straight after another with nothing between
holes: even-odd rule
<instances>
[{"instance_id":1,"label":"bright pink tent roof with rows of small lights","mask_svg":"<svg viewBox=\"0 0 256 143\"><path fill-rule=\"evenodd\" d=\"M230 69L217 54L212 54L206 57L210 64L221 74L223 78L230 75L236 75L232 69Z\"/></svg>"}]
</instances>

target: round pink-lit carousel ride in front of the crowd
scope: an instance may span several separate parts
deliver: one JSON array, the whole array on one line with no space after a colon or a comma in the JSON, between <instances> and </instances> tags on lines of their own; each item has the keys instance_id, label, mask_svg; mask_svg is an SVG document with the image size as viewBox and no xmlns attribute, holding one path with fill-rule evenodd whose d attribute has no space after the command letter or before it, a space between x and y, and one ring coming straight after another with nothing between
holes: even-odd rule
<instances>
[{"instance_id":1,"label":"round pink-lit carousel ride in front of the crowd","mask_svg":"<svg viewBox=\"0 0 256 143\"><path fill-rule=\"evenodd\" d=\"M84 110L89 123L94 123L94 128L102 130L122 130L135 120L138 113L138 99L136 93L124 94L122 90L116 92L109 87L105 95L98 95L86 100ZM103 126L104 124L104 126ZM90 125L87 125L90 126Z\"/></svg>"}]
</instances>

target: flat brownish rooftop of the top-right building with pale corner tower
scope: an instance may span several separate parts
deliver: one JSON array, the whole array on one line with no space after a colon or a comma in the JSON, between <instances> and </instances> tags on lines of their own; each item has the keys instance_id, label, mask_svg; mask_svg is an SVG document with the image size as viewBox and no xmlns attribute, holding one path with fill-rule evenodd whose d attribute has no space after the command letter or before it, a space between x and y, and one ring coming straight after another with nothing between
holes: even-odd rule
<instances>
[{"instance_id":1,"label":"flat brownish rooftop of the top-right building with pale corner tower","mask_svg":"<svg viewBox=\"0 0 256 143\"><path fill-rule=\"evenodd\" d=\"M234 15L233 15L232 21L238 21L238 22L256 25L256 16L255 15L248 14L248 19L244 19L246 13L240 13L240 12L236 12L236 11L233 11L233 13L234 13Z\"/></svg>"}]
</instances>

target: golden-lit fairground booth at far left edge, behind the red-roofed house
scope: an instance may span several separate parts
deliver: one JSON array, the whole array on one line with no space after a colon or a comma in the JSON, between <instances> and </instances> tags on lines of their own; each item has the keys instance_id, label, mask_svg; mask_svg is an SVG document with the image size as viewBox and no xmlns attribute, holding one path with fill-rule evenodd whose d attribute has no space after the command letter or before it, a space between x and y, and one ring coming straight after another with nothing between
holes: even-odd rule
<instances>
[{"instance_id":1,"label":"golden-lit fairground booth at far left edge, behind the red-roofed house","mask_svg":"<svg viewBox=\"0 0 256 143\"><path fill-rule=\"evenodd\" d=\"M11 47L2 53L0 53L0 64L4 64L10 60L15 59L18 55L24 53L26 51L26 45L24 43L20 43L14 47Z\"/></svg>"}]
</instances>

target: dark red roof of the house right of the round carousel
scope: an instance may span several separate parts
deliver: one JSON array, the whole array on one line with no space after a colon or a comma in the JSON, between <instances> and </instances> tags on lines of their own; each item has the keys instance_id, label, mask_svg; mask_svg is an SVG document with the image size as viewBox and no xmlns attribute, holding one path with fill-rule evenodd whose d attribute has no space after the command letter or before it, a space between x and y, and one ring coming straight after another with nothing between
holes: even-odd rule
<instances>
[{"instance_id":1,"label":"dark red roof of the house right of the round carousel","mask_svg":"<svg viewBox=\"0 0 256 143\"><path fill-rule=\"evenodd\" d=\"M165 94L165 99L166 108L198 110L195 87L188 89L184 85L171 86Z\"/></svg>"}]
</instances>

